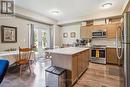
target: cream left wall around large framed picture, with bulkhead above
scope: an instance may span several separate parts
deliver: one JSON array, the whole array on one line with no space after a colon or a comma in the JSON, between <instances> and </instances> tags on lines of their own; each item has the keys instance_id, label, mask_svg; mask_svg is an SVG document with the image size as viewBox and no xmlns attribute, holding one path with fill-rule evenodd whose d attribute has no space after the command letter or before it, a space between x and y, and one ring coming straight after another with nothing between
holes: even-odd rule
<instances>
[{"instance_id":1,"label":"cream left wall around large framed picture, with bulkhead above","mask_svg":"<svg viewBox=\"0 0 130 87\"><path fill-rule=\"evenodd\" d=\"M47 24L56 24L57 21L51 18L48 18L44 15L29 11L27 9L23 9L19 6L16 6L15 13L18 16L26 17L35 21L47 23ZM1 43L1 29L0 29L0 51L9 49L9 48L18 48L21 47L28 47L29 44L29 26L28 24L34 24L37 28L48 28L49 26L46 26L44 24L27 21L20 18L7 18L7 17L1 17L0 18L0 26L6 25L6 26L14 26L17 27L17 43Z\"/></svg>"}]
</instances>

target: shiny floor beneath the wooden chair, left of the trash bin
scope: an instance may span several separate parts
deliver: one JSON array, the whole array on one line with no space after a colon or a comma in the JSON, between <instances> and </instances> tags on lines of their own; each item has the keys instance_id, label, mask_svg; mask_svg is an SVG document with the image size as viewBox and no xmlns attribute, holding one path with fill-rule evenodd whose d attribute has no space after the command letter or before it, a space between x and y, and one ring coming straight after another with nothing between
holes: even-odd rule
<instances>
[{"instance_id":1,"label":"shiny floor beneath the wooden chair, left of the trash bin","mask_svg":"<svg viewBox=\"0 0 130 87\"><path fill-rule=\"evenodd\" d=\"M32 74L30 75L29 69L26 69L23 71L22 78L19 69L11 68L0 87L45 87L45 69L50 65L50 61L40 59L31 65Z\"/></svg>"}]
</instances>

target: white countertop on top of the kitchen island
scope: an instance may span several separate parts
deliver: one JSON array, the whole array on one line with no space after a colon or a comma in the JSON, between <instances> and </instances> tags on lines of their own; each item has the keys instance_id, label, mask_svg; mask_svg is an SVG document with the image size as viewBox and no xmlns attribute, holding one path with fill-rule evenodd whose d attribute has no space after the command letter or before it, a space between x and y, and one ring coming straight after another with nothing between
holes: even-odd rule
<instances>
[{"instance_id":1,"label":"white countertop on top of the kitchen island","mask_svg":"<svg viewBox=\"0 0 130 87\"><path fill-rule=\"evenodd\" d=\"M66 54L66 55L74 55L76 53L85 51L87 49L89 49L89 48L67 47L67 48L57 48L57 49L47 50L46 52L57 53L57 54Z\"/></svg>"}]
</instances>

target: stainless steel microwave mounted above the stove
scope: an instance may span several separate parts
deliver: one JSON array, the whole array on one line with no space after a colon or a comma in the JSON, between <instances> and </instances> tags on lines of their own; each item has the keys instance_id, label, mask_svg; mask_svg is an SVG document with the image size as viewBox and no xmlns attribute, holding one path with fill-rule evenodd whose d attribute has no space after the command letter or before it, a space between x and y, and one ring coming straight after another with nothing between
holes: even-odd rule
<instances>
[{"instance_id":1,"label":"stainless steel microwave mounted above the stove","mask_svg":"<svg viewBox=\"0 0 130 87\"><path fill-rule=\"evenodd\" d=\"M93 31L92 38L106 38L106 31L105 30Z\"/></svg>"}]
</instances>

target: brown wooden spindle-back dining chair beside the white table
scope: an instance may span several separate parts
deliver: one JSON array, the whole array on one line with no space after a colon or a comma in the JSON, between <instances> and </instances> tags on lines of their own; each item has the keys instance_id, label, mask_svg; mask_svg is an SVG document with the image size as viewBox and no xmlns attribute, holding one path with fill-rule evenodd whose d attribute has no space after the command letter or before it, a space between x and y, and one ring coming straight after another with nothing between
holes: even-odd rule
<instances>
[{"instance_id":1,"label":"brown wooden spindle-back dining chair beside the white table","mask_svg":"<svg viewBox=\"0 0 130 87\"><path fill-rule=\"evenodd\" d=\"M31 73L31 67L29 63L31 54L32 54L32 49L19 47L19 56L16 60L16 64L20 66L20 77L22 76L23 65L28 65Z\"/></svg>"}]
</instances>

